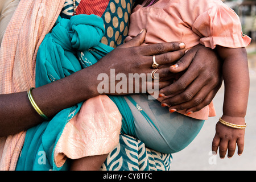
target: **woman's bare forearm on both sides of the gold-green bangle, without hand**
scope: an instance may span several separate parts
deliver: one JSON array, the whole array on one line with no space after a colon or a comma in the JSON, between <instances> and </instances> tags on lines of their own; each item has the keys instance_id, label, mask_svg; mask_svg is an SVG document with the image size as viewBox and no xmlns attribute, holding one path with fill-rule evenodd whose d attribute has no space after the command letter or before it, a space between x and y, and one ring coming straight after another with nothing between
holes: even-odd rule
<instances>
[{"instance_id":1,"label":"woman's bare forearm on both sides of the gold-green bangle, without hand","mask_svg":"<svg viewBox=\"0 0 256 182\"><path fill-rule=\"evenodd\" d=\"M32 96L40 110L51 118L67 107L97 96L96 74L94 67L82 69L33 89ZM44 121L32 107L27 92L0 95L0 108L0 137L27 130Z\"/></svg>"}]
</instances>

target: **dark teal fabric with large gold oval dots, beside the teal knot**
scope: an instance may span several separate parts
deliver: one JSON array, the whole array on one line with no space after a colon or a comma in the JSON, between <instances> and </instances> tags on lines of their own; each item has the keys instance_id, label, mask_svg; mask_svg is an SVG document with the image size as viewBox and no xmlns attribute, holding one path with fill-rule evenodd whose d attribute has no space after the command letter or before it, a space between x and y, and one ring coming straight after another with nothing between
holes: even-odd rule
<instances>
[{"instance_id":1,"label":"dark teal fabric with large gold oval dots, beside the teal knot","mask_svg":"<svg viewBox=\"0 0 256 182\"><path fill-rule=\"evenodd\" d=\"M123 43L128 35L129 16L135 0L110 0L109 5L102 15L105 26L105 35L101 39L111 47L117 47Z\"/></svg>"}]
</instances>

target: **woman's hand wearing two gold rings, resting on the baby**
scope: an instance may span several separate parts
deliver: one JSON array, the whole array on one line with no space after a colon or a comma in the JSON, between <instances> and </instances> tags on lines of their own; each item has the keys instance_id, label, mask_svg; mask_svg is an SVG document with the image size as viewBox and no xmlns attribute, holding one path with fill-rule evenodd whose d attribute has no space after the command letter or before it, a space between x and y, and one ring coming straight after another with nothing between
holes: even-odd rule
<instances>
[{"instance_id":1,"label":"woman's hand wearing two gold rings, resting on the baby","mask_svg":"<svg viewBox=\"0 0 256 182\"><path fill-rule=\"evenodd\" d=\"M156 71L158 77L164 78L171 74L174 75L169 71L169 67L184 55L185 44L171 42L141 46L145 35L146 30L143 30L129 42L118 46L95 64L99 68L98 75L103 73L99 77L102 82L99 83L98 92L102 94L146 93L152 88L150 82L153 81L154 83L154 79L151 78L151 72L155 70L152 68L153 55L155 55L156 62L159 64L159 70ZM151 78L151 80L148 78ZM139 79L141 81L135 82ZM121 88L120 84L122 84ZM170 85L171 82L169 80L158 80L157 84L159 88L164 88ZM123 88L123 86L126 86L126 88Z\"/></svg>"}]
</instances>

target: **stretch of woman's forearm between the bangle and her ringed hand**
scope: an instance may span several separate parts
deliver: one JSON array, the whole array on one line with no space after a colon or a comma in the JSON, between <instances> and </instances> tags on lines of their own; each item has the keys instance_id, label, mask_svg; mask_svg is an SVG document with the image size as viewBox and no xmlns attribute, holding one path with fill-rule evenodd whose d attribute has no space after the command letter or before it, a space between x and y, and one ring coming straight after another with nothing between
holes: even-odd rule
<instances>
[{"instance_id":1,"label":"stretch of woman's forearm between the bangle and her ringed hand","mask_svg":"<svg viewBox=\"0 0 256 182\"><path fill-rule=\"evenodd\" d=\"M33 98L48 117L79 102L98 96L97 77L82 69L61 80L33 89Z\"/></svg>"}]
</instances>

